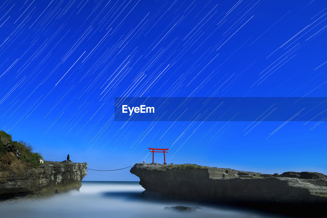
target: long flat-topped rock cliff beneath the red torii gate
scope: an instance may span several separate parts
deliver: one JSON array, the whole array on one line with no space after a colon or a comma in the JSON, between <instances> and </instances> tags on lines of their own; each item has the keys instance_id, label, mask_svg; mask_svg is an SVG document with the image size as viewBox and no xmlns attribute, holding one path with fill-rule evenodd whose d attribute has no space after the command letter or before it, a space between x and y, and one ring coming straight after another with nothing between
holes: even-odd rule
<instances>
[{"instance_id":1,"label":"long flat-topped rock cliff beneath the red torii gate","mask_svg":"<svg viewBox=\"0 0 327 218\"><path fill-rule=\"evenodd\" d=\"M301 217L327 206L327 176L322 173L263 174L157 163L135 164L130 172L140 178L147 196L270 209Z\"/></svg>"}]
</instances>

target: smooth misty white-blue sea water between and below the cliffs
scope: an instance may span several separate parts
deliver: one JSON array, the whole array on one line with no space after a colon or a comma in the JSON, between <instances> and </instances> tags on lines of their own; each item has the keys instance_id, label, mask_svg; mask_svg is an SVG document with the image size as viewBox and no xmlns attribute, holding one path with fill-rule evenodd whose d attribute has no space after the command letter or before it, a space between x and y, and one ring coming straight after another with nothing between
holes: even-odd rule
<instances>
[{"instance_id":1,"label":"smooth misty white-blue sea water between and below the cliffs","mask_svg":"<svg viewBox=\"0 0 327 218\"><path fill-rule=\"evenodd\" d=\"M0 204L0 217L280 217L254 211L224 208L181 201L156 201L141 197L138 182L83 181L80 191L71 191L41 200L19 200ZM196 212L164 209L173 206L200 207Z\"/></svg>"}]
</instances>

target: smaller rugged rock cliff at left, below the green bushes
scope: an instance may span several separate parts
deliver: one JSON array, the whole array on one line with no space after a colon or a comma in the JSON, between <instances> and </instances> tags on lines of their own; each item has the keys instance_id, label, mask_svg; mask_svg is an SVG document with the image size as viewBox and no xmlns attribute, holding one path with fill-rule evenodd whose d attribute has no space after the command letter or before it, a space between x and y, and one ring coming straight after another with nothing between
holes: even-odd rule
<instances>
[{"instance_id":1,"label":"smaller rugged rock cliff at left, below the green bushes","mask_svg":"<svg viewBox=\"0 0 327 218\"><path fill-rule=\"evenodd\" d=\"M47 197L79 190L87 174L87 163L45 161L39 167L0 171L0 200L21 197Z\"/></svg>"}]
</instances>

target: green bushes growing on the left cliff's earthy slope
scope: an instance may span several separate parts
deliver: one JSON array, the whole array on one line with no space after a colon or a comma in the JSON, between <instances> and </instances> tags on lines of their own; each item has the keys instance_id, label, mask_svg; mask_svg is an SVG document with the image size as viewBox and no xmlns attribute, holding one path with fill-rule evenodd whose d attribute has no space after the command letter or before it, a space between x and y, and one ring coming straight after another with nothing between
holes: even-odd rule
<instances>
[{"instance_id":1,"label":"green bushes growing on the left cliff's earthy slope","mask_svg":"<svg viewBox=\"0 0 327 218\"><path fill-rule=\"evenodd\" d=\"M37 162L39 158L43 159L41 154L34 153L33 147L25 141L12 141L11 135L7 134L5 131L0 131L0 156L6 154L8 151L4 147L10 143L11 147L18 148L20 151L20 160L24 160L26 163L32 163L34 166L40 166Z\"/></svg>"}]
</instances>

